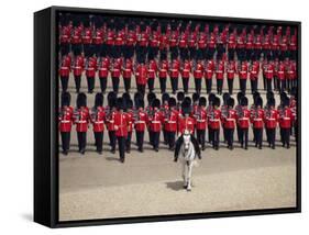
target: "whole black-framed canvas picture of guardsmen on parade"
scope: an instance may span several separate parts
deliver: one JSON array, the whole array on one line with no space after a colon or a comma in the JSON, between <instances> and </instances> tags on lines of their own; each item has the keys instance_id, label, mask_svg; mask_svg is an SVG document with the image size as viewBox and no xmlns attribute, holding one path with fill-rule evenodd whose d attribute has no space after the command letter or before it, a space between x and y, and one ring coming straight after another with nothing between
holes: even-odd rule
<instances>
[{"instance_id":1,"label":"whole black-framed canvas picture of guardsmen on parade","mask_svg":"<svg viewBox=\"0 0 309 235\"><path fill-rule=\"evenodd\" d=\"M34 13L34 221L300 212L300 22Z\"/></svg>"}]
</instances>

